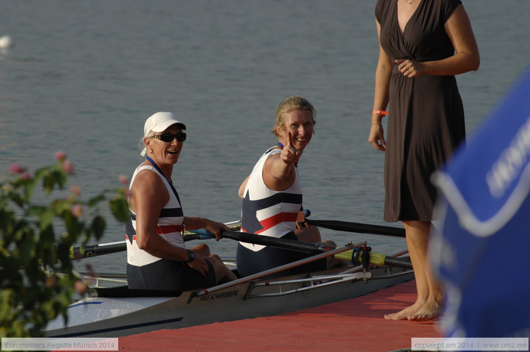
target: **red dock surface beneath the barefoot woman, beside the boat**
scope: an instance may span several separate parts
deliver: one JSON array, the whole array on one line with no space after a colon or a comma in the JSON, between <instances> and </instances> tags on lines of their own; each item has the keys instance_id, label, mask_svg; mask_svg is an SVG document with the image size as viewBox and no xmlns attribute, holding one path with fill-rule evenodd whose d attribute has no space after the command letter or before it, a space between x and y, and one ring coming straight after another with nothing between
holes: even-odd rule
<instances>
[{"instance_id":1,"label":"red dock surface beneath the barefoot woman, beside the boat","mask_svg":"<svg viewBox=\"0 0 530 352\"><path fill-rule=\"evenodd\" d=\"M416 301L415 281L369 295L275 316L158 330L119 338L120 351L362 351L411 347L412 337L440 337L437 321L390 321Z\"/></svg>"}]
</instances>

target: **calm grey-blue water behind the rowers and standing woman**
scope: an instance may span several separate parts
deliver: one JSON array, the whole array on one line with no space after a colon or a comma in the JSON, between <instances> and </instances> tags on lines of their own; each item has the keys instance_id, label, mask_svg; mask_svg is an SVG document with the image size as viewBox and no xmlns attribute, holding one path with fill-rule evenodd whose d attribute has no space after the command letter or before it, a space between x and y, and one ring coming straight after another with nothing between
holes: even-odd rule
<instances>
[{"instance_id":1,"label":"calm grey-blue water behind the rowers and standing woman","mask_svg":"<svg viewBox=\"0 0 530 352\"><path fill-rule=\"evenodd\" d=\"M0 36L0 170L35 170L58 150L88 198L142 162L145 119L172 111L188 125L173 172L184 212L240 216L237 189L261 153L277 104L298 94L317 110L299 172L313 219L385 224L383 153L367 143L377 37L375 0L6 1ZM527 0L465 0L481 52L458 76L469 135L528 65ZM507 118L509 124L509 118ZM3 177L4 171L0 171ZM391 224L398 226L398 224ZM102 242L121 241L109 218ZM402 239L323 230L377 251ZM235 243L208 242L233 256ZM125 253L87 259L125 271Z\"/></svg>"}]
</instances>

